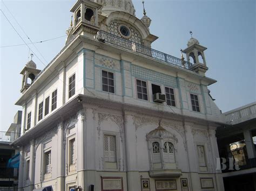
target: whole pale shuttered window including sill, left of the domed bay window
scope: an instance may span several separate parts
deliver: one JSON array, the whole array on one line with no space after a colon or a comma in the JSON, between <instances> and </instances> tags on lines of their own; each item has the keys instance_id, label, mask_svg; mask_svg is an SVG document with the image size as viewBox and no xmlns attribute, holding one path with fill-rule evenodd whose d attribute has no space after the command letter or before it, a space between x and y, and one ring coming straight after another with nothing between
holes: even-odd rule
<instances>
[{"instance_id":1,"label":"whole pale shuttered window including sill, left of the domed bay window","mask_svg":"<svg viewBox=\"0 0 256 191\"><path fill-rule=\"evenodd\" d=\"M117 169L116 136L104 135L104 164L107 169Z\"/></svg>"}]
</instances>

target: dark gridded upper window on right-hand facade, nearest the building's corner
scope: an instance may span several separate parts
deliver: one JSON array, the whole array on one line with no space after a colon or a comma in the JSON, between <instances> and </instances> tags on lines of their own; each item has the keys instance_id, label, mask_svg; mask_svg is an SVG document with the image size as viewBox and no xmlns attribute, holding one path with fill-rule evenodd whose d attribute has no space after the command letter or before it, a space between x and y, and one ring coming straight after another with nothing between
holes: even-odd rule
<instances>
[{"instance_id":1,"label":"dark gridded upper window on right-hand facade, nearest the building's corner","mask_svg":"<svg viewBox=\"0 0 256 191\"><path fill-rule=\"evenodd\" d=\"M102 90L114 94L114 74L102 70Z\"/></svg>"}]
</instances>

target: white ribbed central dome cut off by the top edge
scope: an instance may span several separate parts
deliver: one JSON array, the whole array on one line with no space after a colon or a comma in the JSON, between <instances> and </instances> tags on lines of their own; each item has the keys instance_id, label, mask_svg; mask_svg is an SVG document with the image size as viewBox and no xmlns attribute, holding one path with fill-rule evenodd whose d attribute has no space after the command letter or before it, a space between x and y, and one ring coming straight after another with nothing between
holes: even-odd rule
<instances>
[{"instance_id":1,"label":"white ribbed central dome cut off by the top edge","mask_svg":"<svg viewBox=\"0 0 256 191\"><path fill-rule=\"evenodd\" d=\"M106 15L115 11L123 11L135 16L132 0L95 0L95 2L103 5L102 12Z\"/></svg>"}]
</instances>

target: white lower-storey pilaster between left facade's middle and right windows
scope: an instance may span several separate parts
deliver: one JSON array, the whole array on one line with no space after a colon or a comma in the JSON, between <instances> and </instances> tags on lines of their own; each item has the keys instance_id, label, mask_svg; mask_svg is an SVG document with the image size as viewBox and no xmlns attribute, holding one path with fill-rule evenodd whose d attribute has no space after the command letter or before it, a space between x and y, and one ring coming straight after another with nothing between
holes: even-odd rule
<instances>
[{"instance_id":1,"label":"white lower-storey pilaster between left facade's middle and right windows","mask_svg":"<svg viewBox=\"0 0 256 191\"><path fill-rule=\"evenodd\" d=\"M57 190L65 190L64 122L58 124Z\"/></svg>"}]
</instances>

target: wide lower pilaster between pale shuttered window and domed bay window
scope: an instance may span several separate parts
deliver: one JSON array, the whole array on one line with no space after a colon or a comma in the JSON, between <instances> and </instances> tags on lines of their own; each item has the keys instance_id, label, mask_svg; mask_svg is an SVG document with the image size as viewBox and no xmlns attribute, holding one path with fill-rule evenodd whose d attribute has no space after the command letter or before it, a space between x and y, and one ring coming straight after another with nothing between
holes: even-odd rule
<instances>
[{"instance_id":1,"label":"wide lower pilaster between pale shuttered window and domed bay window","mask_svg":"<svg viewBox=\"0 0 256 191\"><path fill-rule=\"evenodd\" d=\"M125 145L127 162L127 186L129 191L140 190L140 178L136 153L136 129L132 115L125 114Z\"/></svg>"}]
</instances>

